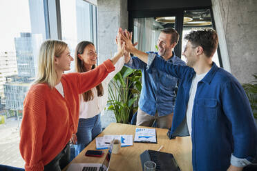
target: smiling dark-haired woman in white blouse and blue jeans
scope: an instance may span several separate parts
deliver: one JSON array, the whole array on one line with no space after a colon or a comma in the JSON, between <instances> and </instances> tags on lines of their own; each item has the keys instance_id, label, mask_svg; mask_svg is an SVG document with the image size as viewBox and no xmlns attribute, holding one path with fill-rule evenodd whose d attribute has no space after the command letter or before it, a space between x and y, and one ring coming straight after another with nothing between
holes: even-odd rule
<instances>
[{"instance_id":1,"label":"smiling dark-haired woman in white blouse and blue jeans","mask_svg":"<svg viewBox=\"0 0 257 171\"><path fill-rule=\"evenodd\" d=\"M126 54L129 55L129 54ZM75 50L75 68L77 72L86 72L95 68L97 52L90 41L80 42ZM88 143L102 132L100 113L108 100L108 83L124 66L124 57L115 65L115 71L108 74L106 79L95 88L80 94L79 125L77 128L76 156Z\"/></svg>"}]
</instances>

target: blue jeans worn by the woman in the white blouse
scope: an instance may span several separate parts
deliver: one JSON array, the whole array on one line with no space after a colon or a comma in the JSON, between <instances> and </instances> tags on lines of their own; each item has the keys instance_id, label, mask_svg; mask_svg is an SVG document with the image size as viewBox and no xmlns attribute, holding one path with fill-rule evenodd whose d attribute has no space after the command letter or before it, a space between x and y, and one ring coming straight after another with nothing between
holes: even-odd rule
<instances>
[{"instance_id":1,"label":"blue jeans worn by the woman in the white blouse","mask_svg":"<svg viewBox=\"0 0 257 171\"><path fill-rule=\"evenodd\" d=\"M95 137L97 137L100 132L102 132L100 114L97 114L95 117L88 119L79 119L75 155L77 156L79 152L82 152L82 150L86 148L86 145L95 139Z\"/></svg>"}]
</instances>

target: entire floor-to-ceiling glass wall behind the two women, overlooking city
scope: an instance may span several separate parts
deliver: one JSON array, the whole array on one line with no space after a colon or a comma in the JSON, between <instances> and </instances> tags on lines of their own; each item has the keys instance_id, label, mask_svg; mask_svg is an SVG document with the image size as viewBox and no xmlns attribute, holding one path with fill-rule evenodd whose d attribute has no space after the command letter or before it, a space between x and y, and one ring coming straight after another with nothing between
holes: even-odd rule
<instances>
[{"instance_id":1,"label":"entire floor-to-ceiling glass wall behind the two women, overlooking city","mask_svg":"<svg viewBox=\"0 0 257 171\"><path fill-rule=\"evenodd\" d=\"M19 128L41 43L59 38L73 53L82 40L97 47L96 17L97 7L83 0L0 1L0 164L24 166Z\"/></svg>"}]
</instances>

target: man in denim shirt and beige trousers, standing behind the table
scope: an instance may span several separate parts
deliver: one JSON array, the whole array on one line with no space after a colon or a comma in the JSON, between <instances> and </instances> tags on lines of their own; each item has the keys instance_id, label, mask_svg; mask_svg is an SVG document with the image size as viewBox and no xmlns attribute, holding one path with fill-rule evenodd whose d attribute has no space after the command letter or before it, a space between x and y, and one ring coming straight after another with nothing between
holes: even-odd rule
<instances>
[{"instance_id":1,"label":"man in denim shirt and beige trousers, standing behind the table","mask_svg":"<svg viewBox=\"0 0 257 171\"><path fill-rule=\"evenodd\" d=\"M161 30L156 57L175 65L185 65L173 52L179 34L173 28ZM125 66L142 70L142 90L137 110L137 125L151 126L156 120L158 128L171 128L175 90L178 79L160 70L146 71L146 63L137 57L125 58Z\"/></svg>"}]
</instances>

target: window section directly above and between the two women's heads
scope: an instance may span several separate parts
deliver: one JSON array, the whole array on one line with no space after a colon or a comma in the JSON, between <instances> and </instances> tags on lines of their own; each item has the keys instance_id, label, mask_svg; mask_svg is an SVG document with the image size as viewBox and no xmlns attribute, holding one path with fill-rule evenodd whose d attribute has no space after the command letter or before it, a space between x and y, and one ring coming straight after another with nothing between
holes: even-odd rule
<instances>
[{"instance_id":1,"label":"window section directly above and between the two women's heads","mask_svg":"<svg viewBox=\"0 0 257 171\"><path fill-rule=\"evenodd\" d=\"M80 41L92 41L97 47L96 39L96 6L83 0L61 0L61 35L68 43L70 53L74 57L75 48ZM70 66L73 72L74 62Z\"/></svg>"}]
</instances>

